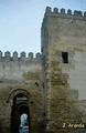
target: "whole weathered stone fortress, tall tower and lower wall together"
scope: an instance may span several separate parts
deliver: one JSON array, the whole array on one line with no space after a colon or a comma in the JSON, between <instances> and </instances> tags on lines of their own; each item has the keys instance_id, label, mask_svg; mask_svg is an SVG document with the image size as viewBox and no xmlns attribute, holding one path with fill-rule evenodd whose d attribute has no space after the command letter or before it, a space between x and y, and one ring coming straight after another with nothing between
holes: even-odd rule
<instances>
[{"instance_id":1,"label":"whole weathered stone fortress, tall tower and lower wall together","mask_svg":"<svg viewBox=\"0 0 86 133\"><path fill-rule=\"evenodd\" d=\"M19 133L22 113L30 133L78 133L68 124L85 123L86 12L47 7L41 51L0 52L0 133Z\"/></svg>"}]
</instances>

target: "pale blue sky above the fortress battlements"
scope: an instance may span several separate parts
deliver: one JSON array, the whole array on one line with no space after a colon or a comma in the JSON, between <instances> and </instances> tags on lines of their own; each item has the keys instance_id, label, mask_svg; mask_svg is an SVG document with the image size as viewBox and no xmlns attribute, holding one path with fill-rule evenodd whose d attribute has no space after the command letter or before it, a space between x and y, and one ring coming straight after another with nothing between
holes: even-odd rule
<instances>
[{"instance_id":1,"label":"pale blue sky above the fortress battlements","mask_svg":"<svg viewBox=\"0 0 86 133\"><path fill-rule=\"evenodd\" d=\"M86 0L0 0L0 50L40 52L47 6L85 11Z\"/></svg>"}]
</instances>

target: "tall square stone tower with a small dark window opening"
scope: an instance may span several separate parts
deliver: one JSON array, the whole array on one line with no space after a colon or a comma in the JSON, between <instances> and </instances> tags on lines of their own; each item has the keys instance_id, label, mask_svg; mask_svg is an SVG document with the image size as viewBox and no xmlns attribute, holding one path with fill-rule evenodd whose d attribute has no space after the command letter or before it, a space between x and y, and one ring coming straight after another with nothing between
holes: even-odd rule
<instances>
[{"instance_id":1,"label":"tall square stone tower with a small dark window opening","mask_svg":"<svg viewBox=\"0 0 86 133\"><path fill-rule=\"evenodd\" d=\"M78 103L86 94L86 12L47 7L41 41L46 131L80 132L74 126L83 123Z\"/></svg>"}]
</instances>

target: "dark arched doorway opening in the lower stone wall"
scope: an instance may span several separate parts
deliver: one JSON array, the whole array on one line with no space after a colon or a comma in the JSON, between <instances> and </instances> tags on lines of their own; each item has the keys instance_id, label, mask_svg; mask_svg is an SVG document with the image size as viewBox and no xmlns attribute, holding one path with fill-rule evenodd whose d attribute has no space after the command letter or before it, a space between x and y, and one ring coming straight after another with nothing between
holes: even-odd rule
<instances>
[{"instance_id":1,"label":"dark arched doorway opening in the lower stone wall","mask_svg":"<svg viewBox=\"0 0 86 133\"><path fill-rule=\"evenodd\" d=\"M25 116L25 120L22 119ZM14 95L11 111L11 133L30 133L29 100L25 94Z\"/></svg>"}]
</instances>

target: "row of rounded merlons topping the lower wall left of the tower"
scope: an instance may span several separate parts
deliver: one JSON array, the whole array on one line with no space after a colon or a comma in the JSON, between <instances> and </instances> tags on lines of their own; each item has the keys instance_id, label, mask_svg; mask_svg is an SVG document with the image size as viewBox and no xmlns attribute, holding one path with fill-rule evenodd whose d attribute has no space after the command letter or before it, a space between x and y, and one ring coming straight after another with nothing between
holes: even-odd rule
<instances>
[{"instance_id":1,"label":"row of rounded merlons topping the lower wall left of the tower","mask_svg":"<svg viewBox=\"0 0 86 133\"><path fill-rule=\"evenodd\" d=\"M41 53L35 53L35 55L33 54L33 52L29 52L28 57L26 53L23 51L20 53L20 55L18 54L17 51L14 51L11 55L11 53L9 51L6 51L4 53L2 53L0 51L0 62L9 62L9 61L41 61Z\"/></svg>"}]
</instances>

